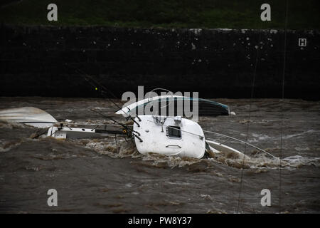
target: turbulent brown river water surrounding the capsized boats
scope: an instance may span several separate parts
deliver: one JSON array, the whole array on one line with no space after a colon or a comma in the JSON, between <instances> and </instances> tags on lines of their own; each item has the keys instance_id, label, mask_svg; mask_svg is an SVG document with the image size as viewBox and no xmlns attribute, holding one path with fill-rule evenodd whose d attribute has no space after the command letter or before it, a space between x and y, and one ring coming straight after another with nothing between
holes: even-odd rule
<instances>
[{"instance_id":1,"label":"turbulent brown river water surrounding the capsized boats","mask_svg":"<svg viewBox=\"0 0 320 228\"><path fill-rule=\"evenodd\" d=\"M36 128L0 123L0 212L319 213L319 102L215 100L237 115L201 117L203 129L247 138L276 156L282 152L281 173L279 160L232 140L229 145L250 156L243 170L237 157L140 155L132 142L120 137L116 142L113 135L33 140ZM103 99L0 98L0 108L25 106L81 123L106 122L89 108L107 115L117 110ZM58 207L47 204L52 188L58 191ZM262 189L271 191L271 207L260 204Z\"/></svg>"}]
</instances>

